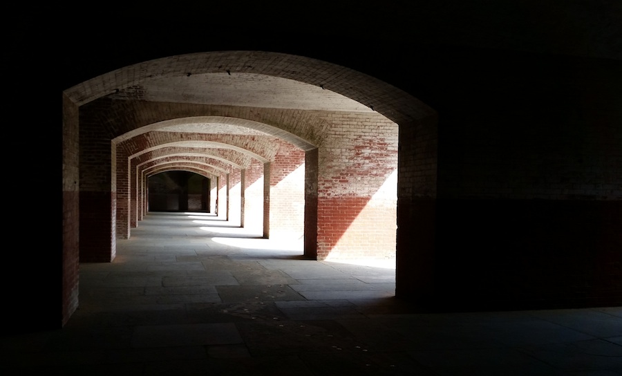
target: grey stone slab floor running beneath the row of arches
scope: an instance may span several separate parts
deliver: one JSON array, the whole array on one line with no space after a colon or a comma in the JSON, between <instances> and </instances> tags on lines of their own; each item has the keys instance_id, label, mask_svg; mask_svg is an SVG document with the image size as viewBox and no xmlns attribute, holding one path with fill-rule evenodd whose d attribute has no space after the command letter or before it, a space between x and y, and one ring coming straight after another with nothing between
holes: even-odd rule
<instances>
[{"instance_id":1,"label":"grey stone slab floor running beneath the row of arches","mask_svg":"<svg viewBox=\"0 0 622 376\"><path fill-rule=\"evenodd\" d=\"M395 260L310 261L208 214L148 214L81 263L62 330L0 337L0 375L622 375L622 308L421 313Z\"/></svg>"}]
</instances>

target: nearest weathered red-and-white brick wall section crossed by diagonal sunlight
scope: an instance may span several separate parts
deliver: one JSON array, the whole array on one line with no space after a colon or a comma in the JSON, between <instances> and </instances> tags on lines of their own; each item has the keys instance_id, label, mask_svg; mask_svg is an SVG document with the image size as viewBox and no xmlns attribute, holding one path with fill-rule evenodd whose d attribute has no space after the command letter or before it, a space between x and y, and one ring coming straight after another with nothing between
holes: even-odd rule
<instances>
[{"instance_id":1,"label":"nearest weathered red-and-white brick wall section crossed by diagonal sunlight","mask_svg":"<svg viewBox=\"0 0 622 376\"><path fill-rule=\"evenodd\" d=\"M395 257L397 124L377 113L318 113L318 258Z\"/></svg>"}]
</instances>

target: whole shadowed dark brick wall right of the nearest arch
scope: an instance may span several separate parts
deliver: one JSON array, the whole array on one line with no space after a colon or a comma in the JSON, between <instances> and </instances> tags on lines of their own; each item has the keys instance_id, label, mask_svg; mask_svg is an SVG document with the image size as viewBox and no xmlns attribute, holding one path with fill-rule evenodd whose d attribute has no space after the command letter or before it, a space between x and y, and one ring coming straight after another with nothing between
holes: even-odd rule
<instances>
[{"instance_id":1,"label":"whole shadowed dark brick wall right of the nearest arch","mask_svg":"<svg viewBox=\"0 0 622 376\"><path fill-rule=\"evenodd\" d=\"M418 273L398 273L398 295L434 310L622 305L622 65L441 55L456 69L426 82L437 199L410 207L401 267Z\"/></svg>"}]
</instances>

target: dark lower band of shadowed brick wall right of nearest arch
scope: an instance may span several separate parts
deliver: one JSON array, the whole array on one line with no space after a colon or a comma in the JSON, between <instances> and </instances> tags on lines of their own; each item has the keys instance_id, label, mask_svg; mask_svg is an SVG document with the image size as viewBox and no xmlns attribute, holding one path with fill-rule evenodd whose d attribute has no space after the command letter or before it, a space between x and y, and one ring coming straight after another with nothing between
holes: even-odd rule
<instances>
[{"instance_id":1,"label":"dark lower band of shadowed brick wall right of nearest arch","mask_svg":"<svg viewBox=\"0 0 622 376\"><path fill-rule=\"evenodd\" d=\"M440 200L435 307L622 305L622 202Z\"/></svg>"}]
</instances>

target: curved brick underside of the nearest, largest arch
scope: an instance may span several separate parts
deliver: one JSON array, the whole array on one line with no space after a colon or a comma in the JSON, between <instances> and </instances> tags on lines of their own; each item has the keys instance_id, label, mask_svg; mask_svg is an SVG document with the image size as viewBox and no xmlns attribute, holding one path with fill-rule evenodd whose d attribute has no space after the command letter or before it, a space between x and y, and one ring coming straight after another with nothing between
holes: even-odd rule
<instances>
[{"instance_id":1,"label":"curved brick underside of the nearest, largest arch","mask_svg":"<svg viewBox=\"0 0 622 376\"><path fill-rule=\"evenodd\" d=\"M255 73L320 86L355 100L397 124L435 115L429 106L375 77L310 57L265 51L215 51L162 57L125 66L64 91L81 106L151 79L203 73Z\"/></svg>"}]
</instances>

